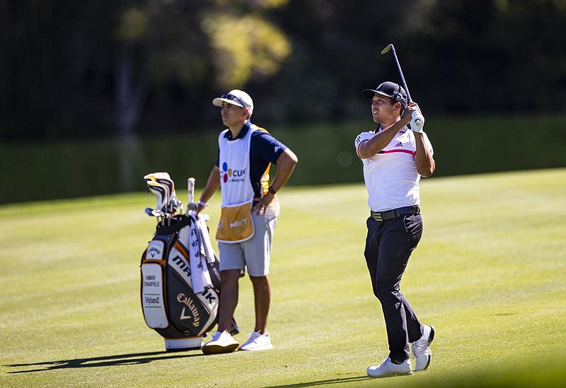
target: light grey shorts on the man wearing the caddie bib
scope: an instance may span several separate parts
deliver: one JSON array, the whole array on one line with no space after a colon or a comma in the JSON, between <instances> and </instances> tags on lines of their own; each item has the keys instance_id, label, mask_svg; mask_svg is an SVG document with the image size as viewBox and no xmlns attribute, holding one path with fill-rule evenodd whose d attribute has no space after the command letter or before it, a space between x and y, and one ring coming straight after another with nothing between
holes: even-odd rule
<instances>
[{"instance_id":1,"label":"light grey shorts on the man wearing the caddie bib","mask_svg":"<svg viewBox=\"0 0 566 388\"><path fill-rule=\"evenodd\" d=\"M220 271L239 269L243 274L248 269L250 276L265 276L270 273L270 255L273 231L277 225L279 206L267 206L265 214L252 213L255 231L250 240L244 242L218 242Z\"/></svg>"}]
</instances>

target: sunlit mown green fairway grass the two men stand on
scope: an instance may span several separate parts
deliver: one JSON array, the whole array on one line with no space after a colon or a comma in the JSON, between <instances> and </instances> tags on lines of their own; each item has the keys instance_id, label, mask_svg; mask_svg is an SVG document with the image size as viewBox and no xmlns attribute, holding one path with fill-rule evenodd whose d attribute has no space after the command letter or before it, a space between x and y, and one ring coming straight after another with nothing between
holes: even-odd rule
<instances>
[{"instance_id":1,"label":"sunlit mown green fairway grass the two men stand on","mask_svg":"<svg viewBox=\"0 0 566 388\"><path fill-rule=\"evenodd\" d=\"M359 183L278 194L275 348L209 356L166 353L144 323L139 261L153 194L0 206L0 387L562 386L566 169L431 178L421 192L424 235L401 289L437 329L424 372L366 377L388 349ZM208 208L212 235L219 201ZM248 278L236 319L246 341Z\"/></svg>"}]
</instances>

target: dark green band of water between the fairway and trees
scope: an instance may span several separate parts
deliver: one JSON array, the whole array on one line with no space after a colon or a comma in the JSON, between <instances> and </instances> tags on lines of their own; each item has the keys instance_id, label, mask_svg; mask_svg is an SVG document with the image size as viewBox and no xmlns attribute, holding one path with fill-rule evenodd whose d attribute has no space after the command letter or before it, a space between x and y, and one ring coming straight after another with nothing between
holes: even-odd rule
<instances>
[{"instance_id":1,"label":"dark green band of water between the fairway and trees","mask_svg":"<svg viewBox=\"0 0 566 388\"><path fill-rule=\"evenodd\" d=\"M362 182L354 139L374 129L359 122L267 127L299 157L289 185ZM262 126L261 122L257 122ZM11 182L0 203L144 190L142 177L167 171L185 187L204 186L218 152L217 131L187 136L53 144L0 145L0 179ZM505 170L566 166L566 118L428 117L425 124L437 170L433 178ZM274 172L275 172L275 168ZM17 177L17 179L14 179Z\"/></svg>"}]
</instances>

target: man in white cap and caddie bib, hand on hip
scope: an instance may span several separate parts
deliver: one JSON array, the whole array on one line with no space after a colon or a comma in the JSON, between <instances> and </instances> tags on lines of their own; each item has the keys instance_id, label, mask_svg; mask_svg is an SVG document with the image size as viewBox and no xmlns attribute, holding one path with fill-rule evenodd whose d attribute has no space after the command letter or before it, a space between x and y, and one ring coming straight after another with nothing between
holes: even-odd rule
<instances>
[{"instance_id":1,"label":"man in white cap and caddie bib, hand on hip","mask_svg":"<svg viewBox=\"0 0 566 388\"><path fill-rule=\"evenodd\" d=\"M229 353L240 345L230 334L238 304L238 281L246 268L253 285L255 329L241 351L272 348L267 332L271 303L270 253L279 202L275 193L287 182L296 155L265 129L250 122L253 100L242 90L214 98L227 129L218 137L219 155L197 204L197 213L221 189L221 217L216 233L221 292L218 331L202 346L204 354ZM271 163L277 174L270 184Z\"/></svg>"}]
</instances>

